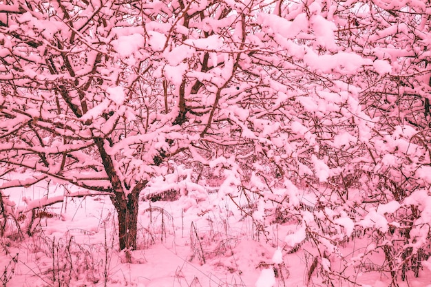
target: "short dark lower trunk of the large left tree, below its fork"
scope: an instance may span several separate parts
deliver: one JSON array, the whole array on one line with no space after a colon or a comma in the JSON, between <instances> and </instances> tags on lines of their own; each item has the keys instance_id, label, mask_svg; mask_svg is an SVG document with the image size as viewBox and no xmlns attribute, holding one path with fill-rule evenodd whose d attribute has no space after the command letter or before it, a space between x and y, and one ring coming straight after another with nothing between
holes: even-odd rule
<instances>
[{"instance_id":1,"label":"short dark lower trunk of the large left tree, below its fork","mask_svg":"<svg viewBox=\"0 0 431 287\"><path fill-rule=\"evenodd\" d=\"M122 196L123 195L123 196ZM136 237L138 235L138 201L139 193L132 192L113 195L112 203L118 214L118 240L120 250L136 249Z\"/></svg>"}]
</instances>

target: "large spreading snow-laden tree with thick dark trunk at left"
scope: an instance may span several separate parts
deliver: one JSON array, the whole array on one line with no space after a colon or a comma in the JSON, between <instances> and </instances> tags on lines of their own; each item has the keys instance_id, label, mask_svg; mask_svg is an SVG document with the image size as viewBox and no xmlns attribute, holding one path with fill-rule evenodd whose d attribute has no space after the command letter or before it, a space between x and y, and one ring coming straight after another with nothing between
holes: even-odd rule
<instances>
[{"instance_id":1,"label":"large spreading snow-laden tree with thick dark trunk at left","mask_svg":"<svg viewBox=\"0 0 431 287\"><path fill-rule=\"evenodd\" d=\"M250 59L264 48L255 43L265 36L255 28L260 5L2 3L2 176L32 173L1 189L49 179L86 190L68 196L108 194L120 249L136 248L138 199L151 180L171 173L177 157L233 169L236 156L255 149L251 129L270 124L253 116L266 108L260 93L275 96L262 82L269 71ZM213 153L228 145L244 149ZM8 206L3 199L4 214Z\"/></svg>"}]
</instances>

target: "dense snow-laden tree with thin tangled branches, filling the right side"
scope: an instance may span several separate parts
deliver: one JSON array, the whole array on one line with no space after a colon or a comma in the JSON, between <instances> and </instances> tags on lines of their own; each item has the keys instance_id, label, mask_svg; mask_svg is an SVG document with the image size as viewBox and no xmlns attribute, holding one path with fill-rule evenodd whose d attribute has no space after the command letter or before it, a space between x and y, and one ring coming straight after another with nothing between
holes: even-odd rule
<instances>
[{"instance_id":1,"label":"dense snow-laden tree with thin tangled branches, filling the right side","mask_svg":"<svg viewBox=\"0 0 431 287\"><path fill-rule=\"evenodd\" d=\"M365 268L379 252L387 264L370 269L390 273L393 286L407 270L418 276L430 255L429 8L277 1L273 14L257 16L266 53L251 58L278 96L266 100L264 116L276 126L256 142L265 156L253 162L249 190L274 211L264 225L296 218L285 242L291 252L316 244L312 266L327 284L351 280L347 265L335 272L328 257L348 262L339 246L357 235L376 248L353 264Z\"/></svg>"}]
</instances>

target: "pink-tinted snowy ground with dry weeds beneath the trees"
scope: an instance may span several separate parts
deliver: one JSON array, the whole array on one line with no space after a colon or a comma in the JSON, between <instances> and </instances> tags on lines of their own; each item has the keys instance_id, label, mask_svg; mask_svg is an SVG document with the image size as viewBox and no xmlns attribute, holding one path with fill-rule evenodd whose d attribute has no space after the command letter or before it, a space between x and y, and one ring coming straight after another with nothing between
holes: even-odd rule
<instances>
[{"instance_id":1,"label":"pink-tinted snowy ground with dry weeds beneath the trees","mask_svg":"<svg viewBox=\"0 0 431 287\"><path fill-rule=\"evenodd\" d=\"M25 206L23 198L47 194L43 183L28 189L10 189L10 199ZM50 188L50 196L63 193ZM211 198L213 196L214 198ZM13 232L0 239L0 280L3 286L330 286L312 269L307 242L288 254L286 237L300 226L271 226L256 230L253 220L236 211L228 200L209 195L202 204L140 202L138 250L118 252L116 214L107 196L67 198L40 210L34 235L18 240ZM217 206L211 202L218 202ZM224 202L224 203L223 203ZM186 209L185 206L188 206ZM212 206L212 208L208 208ZM19 220L28 220L21 216ZM289 229L290 228L290 229ZM340 248L343 260L355 262L372 242L363 238ZM329 268L344 268L336 255ZM375 260L351 268L337 286L390 284L388 274L373 272ZM324 264L322 264L323 266ZM319 267L321 268L321 267ZM419 278L408 272L399 286L431 286L428 270Z\"/></svg>"}]
</instances>

